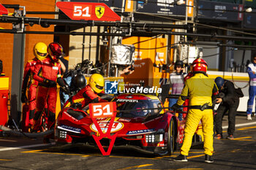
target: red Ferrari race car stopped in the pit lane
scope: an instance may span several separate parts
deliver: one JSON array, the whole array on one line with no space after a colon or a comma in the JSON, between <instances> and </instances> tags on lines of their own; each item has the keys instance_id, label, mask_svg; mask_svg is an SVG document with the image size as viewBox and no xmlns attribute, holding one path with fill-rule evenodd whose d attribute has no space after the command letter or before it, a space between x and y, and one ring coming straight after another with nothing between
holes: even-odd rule
<instances>
[{"instance_id":1,"label":"red Ferrari race car stopped in the pit lane","mask_svg":"<svg viewBox=\"0 0 256 170\"><path fill-rule=\"evenodd\" d=\"M113 147L130 147L158 155L172 154L183 141L185 120L179 121L175 113L167 111L159 98L145 94L120 94L116 102L116 117L110 134L117 134ZM108 128L109 117L97 118L102 131ZM97 147L93 135L98 130L84 109L63 109L56 120L55 139L57 144L83 143ZM108 147L110 139L101 139Z\"/></svg>"}]
</instances>

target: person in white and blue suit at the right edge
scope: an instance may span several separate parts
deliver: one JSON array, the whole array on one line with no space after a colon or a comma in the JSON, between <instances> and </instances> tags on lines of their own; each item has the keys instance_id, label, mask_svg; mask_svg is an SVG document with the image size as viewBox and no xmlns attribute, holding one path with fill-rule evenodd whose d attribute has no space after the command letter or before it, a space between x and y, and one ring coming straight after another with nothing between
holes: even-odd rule
<instances>
[{"instance_id":1,"label":"person in white and blue suit at the right edge","mask_svg":"<svg viewBox=\"0 0 256 170\"><path fill-rule=\"evenodd\" d=\"M249 99L247 102L246 120L252 120L252 107L256 95L256 55L253 58L252 63L249 63L247 67L247 72L249 74Z\"/></svg>"}]
</instances>

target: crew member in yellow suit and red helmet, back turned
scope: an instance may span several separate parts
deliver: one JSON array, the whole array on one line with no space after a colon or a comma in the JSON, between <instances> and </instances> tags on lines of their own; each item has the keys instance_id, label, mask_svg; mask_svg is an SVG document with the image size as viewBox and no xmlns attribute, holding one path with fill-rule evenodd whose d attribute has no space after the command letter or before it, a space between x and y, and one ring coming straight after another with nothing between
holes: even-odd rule
<instances>
[{"instance_id":1,"label":"crew member in yellow suit and red helmet, back turned","mask_svg":"<svg viewBox=\"0 0 256 170\"><path fill-rule=\"evenodd\" d=\"M193 77L185 82L184 88L173 109L177 110L189 96L189 112L184 130L184 141L181 147L181 154L174 158L174 161L187 162L187 155L192 144L192 137L195 134L198 123L202 121L205 162L213 163L214 152L214 115L212 108L212 96L218 94L218 88L214 80L208 78L207 63L201 58L195 59L192 63Z\"/></svg>"}]
</instances>

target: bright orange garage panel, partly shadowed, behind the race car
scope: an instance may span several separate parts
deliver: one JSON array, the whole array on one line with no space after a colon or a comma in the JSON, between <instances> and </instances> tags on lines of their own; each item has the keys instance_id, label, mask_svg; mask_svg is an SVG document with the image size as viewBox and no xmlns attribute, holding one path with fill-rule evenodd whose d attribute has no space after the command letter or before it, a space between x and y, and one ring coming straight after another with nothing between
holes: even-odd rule
<instances>
[{"instance_id":1,"label":"bright orange garage panel, partly shadowed, behind the race car","mask_svg":"<svg viewBox=\"0 0 256 170\"><path fill-rule=\"evenodd\" d=\"M144 80L145 86L159 87L162 83L167 81L169 73L153 66L154 63L157 66L166 64L167 39L133 36L123 39L122 44L135 45L135 72L124 76L124 82L138 84L140 80Z\"/></svg>"}]
</instances>

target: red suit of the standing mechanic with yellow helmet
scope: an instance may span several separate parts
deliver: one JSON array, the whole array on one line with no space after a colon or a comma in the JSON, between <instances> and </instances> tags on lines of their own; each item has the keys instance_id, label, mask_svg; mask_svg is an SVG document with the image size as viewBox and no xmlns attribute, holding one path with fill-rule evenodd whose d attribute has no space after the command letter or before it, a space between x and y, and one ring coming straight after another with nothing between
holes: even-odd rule
<instances>
[{"instance_id":1,"label":"red suit of the standing mechanic with yellow helmet","mask_svg":"<svg viewBox=\"0 0 256 170\"><path fill-rule=\"evenodd\" d=\"M22 91L26 96L26 90L28 90L28 101L29 101L29 124L33 124L34 112L36 109L36 96L37 96L37 85L38 82L33 78L34 66L36 65L37 58L33 58L31 61L26 63L24 74L23 74L23 82L22 82Z\"/></svg>"}]
</instances>

